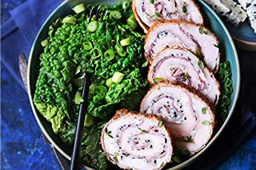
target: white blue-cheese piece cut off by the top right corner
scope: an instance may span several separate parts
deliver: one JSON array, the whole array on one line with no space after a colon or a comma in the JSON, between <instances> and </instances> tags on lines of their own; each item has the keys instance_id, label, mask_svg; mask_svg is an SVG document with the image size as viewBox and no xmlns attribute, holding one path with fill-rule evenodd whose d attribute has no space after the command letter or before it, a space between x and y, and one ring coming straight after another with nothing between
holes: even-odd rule
<instances>
[{"instance_id":1,"label":"white blue-cheese piece cut off by the top right corner","mask_svg":"<svg viewBox=\"0 0 256 170\"><path fill-rule=\"evenodd\" d=\"M239 0L238 1L246 11L250 25L256 33L256 1L254 0Z\"/></svg>"}]
</instances>

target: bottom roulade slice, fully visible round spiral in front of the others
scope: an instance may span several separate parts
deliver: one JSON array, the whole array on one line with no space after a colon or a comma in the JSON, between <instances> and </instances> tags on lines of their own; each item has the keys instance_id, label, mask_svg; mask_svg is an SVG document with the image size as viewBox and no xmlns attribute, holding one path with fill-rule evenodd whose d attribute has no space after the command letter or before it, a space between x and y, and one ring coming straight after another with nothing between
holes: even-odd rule
<instances>
[{"instance_id":1,"label":"bottom roulade slice, fully visible round spiral in front of the others","mask_svg":"<svg viewBox=\"0 0 256 170\"><path fill-rule=\"evenodd\" d=\"M101 145L106 158L124 169L161 169L172 160L172 137L154 114L121 109L105 124Z\"/></svg>"}]
</instances>

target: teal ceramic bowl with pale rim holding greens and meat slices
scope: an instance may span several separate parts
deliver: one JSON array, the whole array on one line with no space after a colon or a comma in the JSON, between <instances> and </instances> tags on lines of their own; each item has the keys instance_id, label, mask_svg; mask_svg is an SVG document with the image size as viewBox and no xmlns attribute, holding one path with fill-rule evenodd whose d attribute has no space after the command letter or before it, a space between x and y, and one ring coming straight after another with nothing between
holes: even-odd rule
<instances>
[{"instance_id":1,"label":"teal ceramic bowl with pale rim holding greens and meat slices","mask_svg":"<svg viewBox=\"0 0 256 170\"><path fill-rule=\"evenodd\" d=\"M38 65L39 65L39 55L43 52L43 49L40 45L40 42L45 39L48 35L49 26L52 24L53 21L55 21L59 17L65 17L69 14L74 14L72 11L72 7L84 3L84 5L88 4L94 4L101 2L105 6L112 6L115 5L119 0L114 1L103 1L103 0L70 0L63 2L58 8L56 8L52 14L47 18L44 25L41 27L40 31L38 32L38 35L33 43L30 58L29 58L29 65L28 65L28 93L30 98L31 107L33 109L35 118L38 122L38 125L40 126L41 130L46 134L47 138L50 140L50 142L55 146L55 148L65 157L68 159L71 159L71 149L68 148L58 135L54 134L51 129L51 125L47 122L47 120L40 115L40 113L36 110L34 104L33 104L33 96L35 91L35 83L38 76ZM226 124L228 123L233 110L234 106L237 103L238 94L239 94L239 88L240 88L240 67L239 67L239 60L238 55L236 51L236 47L234 46L234 43L232 41L232 38L225 27L222 20L219 18L219 16L203 1L199 0L196 1L196 3L201 8L201 11L204 15L205 20L205 27L209 28L213 33L215 33L219 40L220 40L220 51L221 51L221 61L229 60L230 62L230 68L232 71L231 80L233 81L232 87L233 87L233 93L231 94L231 104L228 107L228 117L226 119L226 122L216 128L214 131L214 134L212 135L211 140L208 142L206 147L202 149L199 153L189 156L185 161L182 163L168 163L164 167L164 169L179 169L182 167L185 167L189 165L191 162L195 161L197 158L199 158L209 147L212 145L218 136L222 133L223 129L225 128ZM91 169L86 165L83 165L80 163L80 166L83 168ZM117 168L118 169L118 168Z\"/></svg>"}]
</instances>

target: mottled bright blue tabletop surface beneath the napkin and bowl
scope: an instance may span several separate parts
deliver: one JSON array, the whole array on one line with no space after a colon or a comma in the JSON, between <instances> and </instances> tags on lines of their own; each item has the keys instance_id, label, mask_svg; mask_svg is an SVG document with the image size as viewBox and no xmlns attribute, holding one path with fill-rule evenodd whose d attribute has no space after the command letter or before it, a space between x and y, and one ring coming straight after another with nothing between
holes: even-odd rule
<instances>
[{"instance_id":1,"label":"mottled bright blue tabletop surface beneath the napkin and bowl","mask_svg":"<svg viewBox=\"0 0 256 170\"><path fill-rule=\"evenodd\" d=\"M25 1L1 1L1 24ZM256 53L252 54L256 60ZM26 91L2 62L1 169L59 169L51 148L42 139ZM256 127L214 169L256 169Z\"/></svg>"}]
</instances>

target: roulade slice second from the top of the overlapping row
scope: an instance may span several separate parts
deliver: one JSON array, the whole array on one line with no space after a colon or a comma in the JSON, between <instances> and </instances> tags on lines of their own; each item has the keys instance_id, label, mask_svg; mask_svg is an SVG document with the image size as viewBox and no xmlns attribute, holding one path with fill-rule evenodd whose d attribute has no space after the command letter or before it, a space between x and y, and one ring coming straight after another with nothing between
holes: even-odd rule
<instances>
[{"instance_id":1,"label":"roulade slice second from the top of the overlapping row","mask_svg":"<svg viewBox=\"0 0 256 170\"><path fill-rule=\"evenodd\" d=\"M183 20L160 20L146 34L145 59L151 63L165 47L178 45L203 58L215 74L220 63L218 44L218 38L202 25Z\"/></svg>"}]
</instances>

